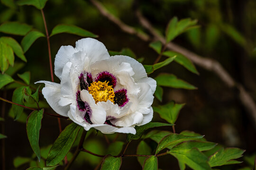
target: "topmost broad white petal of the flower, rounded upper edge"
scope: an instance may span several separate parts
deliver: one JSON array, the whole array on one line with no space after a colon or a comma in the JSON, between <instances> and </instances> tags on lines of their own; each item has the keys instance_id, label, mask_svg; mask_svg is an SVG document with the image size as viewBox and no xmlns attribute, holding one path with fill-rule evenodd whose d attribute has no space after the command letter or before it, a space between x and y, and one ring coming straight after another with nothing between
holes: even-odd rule
<instances>
[{"instance_id":1,"label":"topmost broad white petal of the flower, rounded upper edge","mask_svg":"<svg viewBox=\"0 0 256 170\"><path fill-rule=\"evenodd\" d=\"M108 59L110 57L105 45L93 38L83 38L78 40L75 42L75 49L77 51L83 51L86 57L90 59L90 63L87 63L87 65L91 65L96 61Z\"/></svg>"}]
</instances>

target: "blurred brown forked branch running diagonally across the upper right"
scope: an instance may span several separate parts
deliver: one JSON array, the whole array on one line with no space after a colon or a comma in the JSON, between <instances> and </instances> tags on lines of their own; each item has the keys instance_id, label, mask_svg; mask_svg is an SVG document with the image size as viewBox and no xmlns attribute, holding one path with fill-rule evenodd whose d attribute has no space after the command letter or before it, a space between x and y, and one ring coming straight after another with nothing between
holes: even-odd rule
<instances>
[{"instance_id":1,"label":"blurred brown forked branch running diagonally across the upper right","mask_svg":"<svg viewBox=\"0 0 256 170\"><path fill-rule=\"evenodd\" d=\"M115 23L117 26L120 27L120 29L128 34L135 34L138 36L138 32L136 31L136 29L134 29L131 26L128 26L126 24L124 24L123 22L121 22L119 20L119 18L113 16L112 14L110 14L110 12L104 8L102 6L102 4L100 2L98 2L97 0L91 0L92 4L100 11L101 15L108 18L110 21L112 21L113 23ZM149 23L149 21L143 17L143 15L141 14L141 12L139 10L136 11L136 15L137 18L140 22L140 24L145 27L150 34L152 34L154 36L154 40L159 40L161 41L163 44L165 44L165 38L162 37L161 35L159 35L154 27ZM129 27L130 30L133 30L132 33L130 33L130 31L127 31L127 29L125 29L125 27ZM137 32L137 33L134 33ZM147 35L146 39L141 38L140 36L138 36L141 40L143 41L149 41L150 38L148 38L149 36ZM253 98L250 96L250 94L245 90L245 88L242 85L239 85L230 75L229 73L221 66L221 64L214 60L214 59L209 59L209 58L205 58L205 57L201 57L200 55L189 51L173 42L170 42L167 44L167 48L176 52L179 52L181 54L183 54L184 56L186 56L188 59L190 59L193 63L195 63L196 65L208 70L208 71L212 71L214 72L217 76L219 76L219 78L229 87L229 88L238 88L239 90L239 100L240 102L244 105L244 107L247 109L248 113L251 114L252 118L254 119L255 122L255 127L256 127L256 104L253 100Z\"/></svg>"}]
</instances>

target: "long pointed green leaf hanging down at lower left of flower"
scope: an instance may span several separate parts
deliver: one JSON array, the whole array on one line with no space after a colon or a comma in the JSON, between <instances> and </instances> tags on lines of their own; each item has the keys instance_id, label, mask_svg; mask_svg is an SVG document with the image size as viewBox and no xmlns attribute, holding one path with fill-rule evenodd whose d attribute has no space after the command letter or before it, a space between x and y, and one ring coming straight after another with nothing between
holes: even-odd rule
<instances>
[{"instance_id":1,"label":"long pointed green leaf hanging down at lower left of flower","mask_svg":"<svg viewBox=\"0 0 256 170\"><path fill-rule=\"evenodd\" d=\"M38 160L41 159L40 147L39 147L39 132L41 129L41 120L43 119L44 109L39 111L34 110L27 117L27 138L36 153Z\"/></svg>"}]
</instances>

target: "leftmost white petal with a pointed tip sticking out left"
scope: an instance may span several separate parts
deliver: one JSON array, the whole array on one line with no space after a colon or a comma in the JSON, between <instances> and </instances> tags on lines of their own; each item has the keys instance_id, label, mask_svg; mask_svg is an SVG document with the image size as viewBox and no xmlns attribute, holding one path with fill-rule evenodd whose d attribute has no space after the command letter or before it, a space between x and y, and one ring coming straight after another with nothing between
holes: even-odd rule
<instances>
[{"instance_id":1,"label":"leftmost white petal with a pointed tip sticking out left","mask_svg":"<svg viewBox=\"0 0 256 170\"><path fill-rule=\"evenodd\" d=\"M53 82L48 81L38 81L36 83L45 83L46 86L43 88L42 93L44 97L46 98L46 101L49 103L49 105L53 108L53 110L62 115L67 116L69 105L67 106L60 106L58 104L61 95L61 85Z\"/></svg>"}]
</instances>

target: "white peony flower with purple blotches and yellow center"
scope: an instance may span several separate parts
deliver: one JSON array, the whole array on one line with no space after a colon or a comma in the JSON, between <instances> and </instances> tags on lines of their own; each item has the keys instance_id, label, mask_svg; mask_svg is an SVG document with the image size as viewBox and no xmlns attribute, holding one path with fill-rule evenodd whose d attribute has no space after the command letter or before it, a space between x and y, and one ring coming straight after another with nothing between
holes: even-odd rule
<instances>
[{"instance_id":1,"label":"white peony flower with purple blotches and yellow center","mask_svg":"<svg viewBox=\"0 0 256 170\"><path fill-rule=\"evenodd\" d=\"M104 134L136 134L135 125L151 121L156 82L141 63L128 56L109 55L103 43L84 38L62 46L55 57L55 75L42 90L49 105L62 116Z\"/></svg>"}]
</instances>

